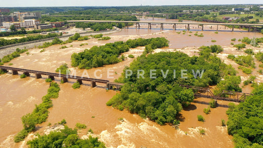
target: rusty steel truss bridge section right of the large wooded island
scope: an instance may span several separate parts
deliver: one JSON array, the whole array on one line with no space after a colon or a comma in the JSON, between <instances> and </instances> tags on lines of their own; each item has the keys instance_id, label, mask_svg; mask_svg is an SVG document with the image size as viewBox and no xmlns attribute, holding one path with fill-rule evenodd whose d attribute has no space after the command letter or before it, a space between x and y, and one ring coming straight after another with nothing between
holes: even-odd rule
<instances>
[{"instance_id":1,"label":"rusty steel truss bridge section right of the large wooded island","mask_svg":"<svg viewBox=\"0 0 263 148\"><path fill-rule=\"evenodd\" d=\"M197 86L189 86L189 85L180 85L180 86L196 90L194 91L194 96L196 97L213 98L215 100L244 102L248 96L253 95L250 93L223 90L221 93L215 96L213 92L206 87L197 87Z\"/></svg>"}]
</instances>

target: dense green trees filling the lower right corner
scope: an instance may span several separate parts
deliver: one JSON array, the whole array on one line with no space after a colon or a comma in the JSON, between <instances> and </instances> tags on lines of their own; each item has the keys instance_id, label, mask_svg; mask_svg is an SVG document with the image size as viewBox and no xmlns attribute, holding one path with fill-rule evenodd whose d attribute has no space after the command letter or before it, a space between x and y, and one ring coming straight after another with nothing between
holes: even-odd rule
<instances>
[{"instance_id":1,"label":"dense green trees filling the lower right corner","mask_svg":"<svg viewBox=\"0 0 263 148\"><path fill-rule=\"evenodd\" d=\"M229 104L228 134L233 135L236 148L263 148L263 83L252 91L239 105Z\"/></svg>"}]
</instances>

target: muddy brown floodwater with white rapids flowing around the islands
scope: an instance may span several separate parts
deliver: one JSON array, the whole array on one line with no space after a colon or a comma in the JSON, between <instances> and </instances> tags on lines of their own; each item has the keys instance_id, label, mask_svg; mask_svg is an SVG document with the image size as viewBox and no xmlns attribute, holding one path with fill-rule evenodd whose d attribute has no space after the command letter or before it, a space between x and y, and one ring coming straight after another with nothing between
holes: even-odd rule
<instances>
[{"instance_id":1,"label":"muddy brown floodwater with white rapids flowing around the islands","mask_svg":"<svg viewBox=\"0 0 263 148\"><path fill-rule=\"evenodd\" d=\"M155 19L154 21L160 21ZM176 20L174 20L176 21ZM74 52L81 52L84 49L89 49L94 45L103 45L105 43L114 42L118 40L127 40L129 38L138 37L166 37L170 40L170 46L159 51L174 51L175 48L192 56L198 51L197 47L201 45L220 44L225 48L225 51L218 56L227 64L232 64L236 69L237 65L231 60L227 60L227 54L234 53L236 55L244 54L244 52L237 52L230 46L231 38L242 37L263 37L258 33L246 32L219 32L215 34L214 31L200 32L204 37L196 37L193 34L196 31L163 30L158 29L158 25L152 25L154 29L122 29L118 33L107 35L112 37L110 40L98 41L97 39L89 39L86 41L74 41L66 44L68 48L59 49L62 45L53 45L45 48L44 52L39 52L41 49L30 49L30 54L22 54L20 57L13 59L11 67L54 72L61 64L67 63L71 71L76 70L76 74L81 76L83 72L90 77L94 76L96 70L101 70L97 75L102 74L102 79L113 81L118 78L125 66L133 61L133 59L126 59L125 61L108 65L101 68L93 68L90 70L78 70L70 66L71 55ZM157 27L156 27L157 26ZM142 25L141 27L144 27ZM180 26L178 26L180 28ZM181 26L182 28L184 26ZM211 26L210 26L211 27ZM145 28L147 26L145 25ZM157 29L156 29L157 28ZM171 25L164 25L164 28L172 29ZM214 27L212 27L214 28ZM223 28L223 27L222 27ZM225 27L224 27L225 28ZM210 29L207 27L206 29ZM240 30L241 31L241 30ZM181 32L180 34L176 32ZM189 36L191 35L191 36ZM211 42L212 39L217 42ZM81 43L88 43L88 45L79 46ZM235 41L238 43L238 41ZM73 45L70 47L70 45ZM182 48L182 49L181 49ZM254 48L254 47L253 47ZM255 48L260 50L261 48ZM137 47L131 49L125 56L133 54L139 56L142 54L144 47ZM157 49L158 50L158 49ZM8 66L8 63L4 64ZM256 66L259 62L256 61ZM258 66L257 66L258 67ZM107 77L107 70L112 70L113 78ZM253 74L258 74L257 78L262 81L262 77L257 73L257 69ZM114 74L116 72L116 74ZM248 75L239 71L239 74L245 79ZM2 148L18 148L26 147L25 142L15 144L13 137L20 130L23 129L21 117L35 108L35 104L41 103L41 97L47 92L49 86L45 82L45 78L35 79L35 75L21 79L19 75L2 74L0 75L0 147ZM59 79L55 80L60 83ZM179 130L172 128L170 125L160 126L148 119L142 119L137 114L131 114L128 111L118 111L112 107L107 107L106 102L109 101L116 93L116 91L106 91L105 84L98 83L97 87L91 88L89 82L84 82L79 89L73 89L72 84L75 81L69 79L69 82L59 84L61 91L59 97L53 100L53 107L49 109L49 116L47 121L38 125L37 133L43 134L47 128L48 123L54 125L66 119L67 125L74 128L77 122L87 125L87 129L79 131L79 136L83 138L87 135L87 130L91 128L94 132L93 136L98 136L107 147L113 148L233 148L232 137L227 134L227 128L221 126L221 119L227 121L226 101L218 101L219 107L211 109L211 113L206 115L203 112L204 108L208 107L209 99L197 98L191 105L180 112L178 119L181 121ZM243 88L245 92L250 92L250 86ZM197 115L201 114L205 118L205 122L197 121ZM95 116L92 118L92 116ZM124 121L118 121L118 118L124 118ZM199 130L204 129L205 135L200 135Z\"/></svg>"}]
</instances>

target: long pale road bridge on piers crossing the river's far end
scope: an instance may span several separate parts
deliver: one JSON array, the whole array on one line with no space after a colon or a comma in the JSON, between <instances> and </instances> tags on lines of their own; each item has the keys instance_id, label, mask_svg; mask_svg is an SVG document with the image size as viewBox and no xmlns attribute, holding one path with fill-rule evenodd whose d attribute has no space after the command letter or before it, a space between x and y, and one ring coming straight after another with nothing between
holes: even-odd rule
<instances>
[{"instance_id":1,"label":"long pale road bridge on piers crossing the river's far end","mask_svg":"<svg viewBox=\"0 0 263 148\"><path fill-rule=\"evenodd\" d=\"M128 23L134 23L136 24L136 29L137 27L140 29L140 24L148 24L148 29L151 29L151 24L160 24L161 25L161 30L163 30L163 24L169 24L173 25L173 29L176 30L176 25L182 25L185 24L187 25L187 30L190 30L190 25L198 25L201 26L201 30L204 31L204 25L217 25L217 30L219 25L230 25L232 26L232 32L234 31L234 26L246 26L248 28L248 32L251 31L251 28L253 26L257 27L263 27L263 24L237 24L237 23L206 23L206 22L152 22L152 21L105 21L105 20L70 20L67 22L95 22L95 23L125 23L125 27L129 28Z\"/></svg>"}]
</instances>

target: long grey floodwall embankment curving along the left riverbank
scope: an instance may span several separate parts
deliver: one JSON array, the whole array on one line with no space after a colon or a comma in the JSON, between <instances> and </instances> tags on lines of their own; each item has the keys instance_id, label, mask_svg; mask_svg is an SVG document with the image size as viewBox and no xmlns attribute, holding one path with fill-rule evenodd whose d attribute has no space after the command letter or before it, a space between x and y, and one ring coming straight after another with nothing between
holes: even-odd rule
<instances>
[{"instance_id":1,"label":"long grey floodwall embankment curving along the left riverbank","mask_svg":"<svg viewBox=\"0 0 263 148\"><path fill-rule=\"evenodd\" d=\"M107 31L84 32L84 33L79 33L79 34L82 36L90 36L90 35L97 35L97 34L101 34L101 33L108 33L108 32L112 32L112 31L116 31L116 30L117 29L114 28L112 30L107 30ZM120 29L118 29L118 31L120 31ZM63 36L60 36L58 38L65 41L65 40L69 39L70 36L73 36L73 35L74 34L63 35ZM2 47L0 47L0 58L16 51L16 48L20 48L20 49L24 49L25 47L26 47L26 49L35 48L35 47L38 47L39 45L42 45L44 42L51 42L54 38L55 37L51 37L51 38L45 38L45 39L39 39L39 40L33 40L33 41L28 41L28 42L22 42L22 43L2 46Z\"/></svg>"}]
</instances>

